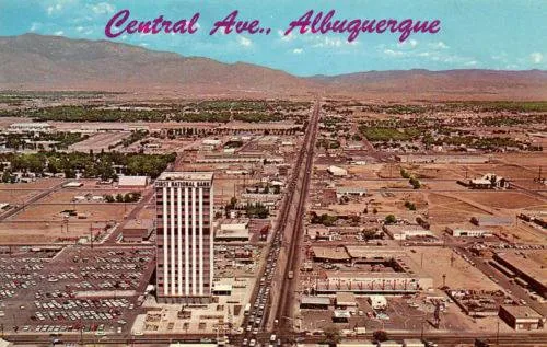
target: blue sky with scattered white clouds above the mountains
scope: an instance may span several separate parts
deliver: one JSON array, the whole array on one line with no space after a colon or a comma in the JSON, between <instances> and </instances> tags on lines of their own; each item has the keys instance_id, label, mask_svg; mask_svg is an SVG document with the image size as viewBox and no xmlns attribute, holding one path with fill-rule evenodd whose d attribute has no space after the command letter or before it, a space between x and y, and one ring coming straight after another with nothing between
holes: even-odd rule
<instances>
[{"instance_id":1,"label":"blue sky with scattered white clouds above the mountains","mask_svg":"<svg viewBox=\"0 0 547 347\"><path fill-rule=\"evenodd\" d=\"M0 35L34 32L71 38L105 39L114 13L131 19L160 14L177 21L200 12L195 35L126 35L115 41L224 62L245 61L299 76L406 69L547 69L547 0L0 0ZM335 9L339 19L441 20L438 34L283 36L307 10ZM216 34L212 23L231 11L259 19L269 35Z\"/></svg>"}]
</instances>

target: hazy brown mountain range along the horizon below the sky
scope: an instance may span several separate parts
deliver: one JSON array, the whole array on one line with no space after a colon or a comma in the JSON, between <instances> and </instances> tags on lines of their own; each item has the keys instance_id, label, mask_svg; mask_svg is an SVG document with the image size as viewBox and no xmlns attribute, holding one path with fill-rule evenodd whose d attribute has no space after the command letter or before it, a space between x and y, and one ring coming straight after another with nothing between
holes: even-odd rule
<instances>
[{"instance_id":1,"label":"hazy brown mountain range along the horizon below the sky","mask_svg":"<svg viewBox=\"0 0 547 347\"><path fill-rule=\"evenodd\" d=\"M408 70L301 78L107 41L25 34L0 37L0 89L546 100L547 71Z\"/></svg>"}]
</instances>

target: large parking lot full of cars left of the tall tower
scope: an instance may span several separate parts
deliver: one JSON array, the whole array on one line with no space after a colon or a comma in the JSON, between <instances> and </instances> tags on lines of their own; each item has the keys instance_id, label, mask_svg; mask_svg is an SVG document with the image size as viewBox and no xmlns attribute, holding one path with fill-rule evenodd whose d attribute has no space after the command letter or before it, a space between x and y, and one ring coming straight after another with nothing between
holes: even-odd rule
<instances>
[{"instance_id":1,"label":"large parking lot full of cars left of the tall tower","mask_svg":"<svg viewBox=\"0 0 547 347\"><path fill-rule=\"evenodd\" d=\"M139 248L18 250L0 255L0 315L5 331L127 332L153 273Z\"/></svg>"}]
</instances>

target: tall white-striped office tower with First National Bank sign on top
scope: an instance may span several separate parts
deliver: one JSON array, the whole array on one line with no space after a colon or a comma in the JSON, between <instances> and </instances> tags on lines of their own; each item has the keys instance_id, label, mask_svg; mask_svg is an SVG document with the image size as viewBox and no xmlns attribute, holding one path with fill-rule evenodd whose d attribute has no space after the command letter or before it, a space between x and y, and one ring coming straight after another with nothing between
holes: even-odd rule
<instances>
[{"instance_id":1,"label":"tall white-striped office tower with First National Bank sign on top","mask_svg":"<svg viewBox=\"0 0 547 347\"><path fill-rule=\"evenodd\" d=\"M155 181L160 302L207 302L213 278L213 174L164 172Z\"/></svg>"}]
</instances>

